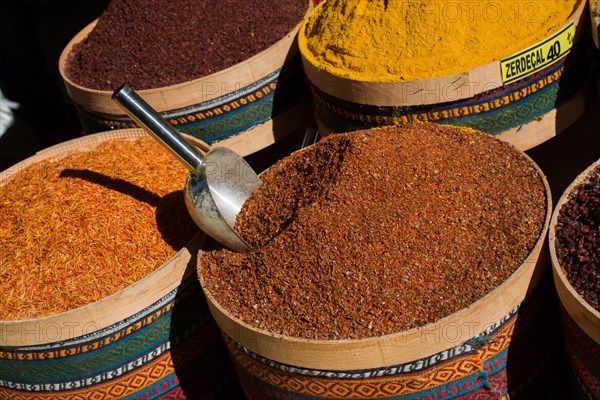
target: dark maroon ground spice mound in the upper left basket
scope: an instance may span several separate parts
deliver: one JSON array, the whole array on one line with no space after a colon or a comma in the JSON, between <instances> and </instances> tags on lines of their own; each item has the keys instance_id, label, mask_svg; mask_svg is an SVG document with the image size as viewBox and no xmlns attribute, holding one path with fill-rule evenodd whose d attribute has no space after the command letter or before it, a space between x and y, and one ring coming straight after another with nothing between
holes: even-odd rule
<instances>
[{"instance_id":1,"label":"dark maroon ground spice mound in the upper left basket","mask_svg":"<svg viewBox=\"0 0 600 400\"><path fill-rule=\"evenodd\" d=\"M66 76L84 87L151 89L238 64L304 17L306 0L112 0L73 47Z\"/></svg>"}]
</instances>

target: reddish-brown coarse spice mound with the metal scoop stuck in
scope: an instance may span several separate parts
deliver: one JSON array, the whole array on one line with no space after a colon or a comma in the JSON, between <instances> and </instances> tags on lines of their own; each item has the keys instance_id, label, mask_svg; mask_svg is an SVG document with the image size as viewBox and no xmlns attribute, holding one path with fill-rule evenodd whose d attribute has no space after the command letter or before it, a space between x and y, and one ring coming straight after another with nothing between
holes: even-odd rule
<instances>
[{"instance_id":1,"label":"reddish-brown coarse spice mound with the metal scoop stuck in","mask_svg":"<svg viewBox=\"0 0 600 400\"><path fill-rule=\"evenodd\" d=\"M365 338L434 322L502 283L545 221L545 186L510 145L432 124L328 136L276 163L204 289L255 327ZM290 217L291 216L291 217Z\"/></svg>"}]
</instances>

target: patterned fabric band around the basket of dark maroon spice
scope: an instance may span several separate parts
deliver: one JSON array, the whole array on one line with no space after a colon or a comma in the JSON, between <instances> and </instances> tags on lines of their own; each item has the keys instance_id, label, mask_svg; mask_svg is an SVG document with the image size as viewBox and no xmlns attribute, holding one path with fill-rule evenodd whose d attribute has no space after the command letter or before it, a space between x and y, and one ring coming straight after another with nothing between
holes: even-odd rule
<instances>
[{"instance_id":1,"label":"patterned fabric band around the basket of dark maroon spice","mask_svg":"<svg viewBox=\"0 0 600 400\"><path fill-rule=\"evenodd\" d=\"M215 99L161 113L185 134L213 143L264 124L297 104L308 92L300 57L283 68L244 87L235 84L206 84L204 93L223 93ZM109 115L78 106L84 132L134 128L123 115Z\"/></svg>"}]
</instances>

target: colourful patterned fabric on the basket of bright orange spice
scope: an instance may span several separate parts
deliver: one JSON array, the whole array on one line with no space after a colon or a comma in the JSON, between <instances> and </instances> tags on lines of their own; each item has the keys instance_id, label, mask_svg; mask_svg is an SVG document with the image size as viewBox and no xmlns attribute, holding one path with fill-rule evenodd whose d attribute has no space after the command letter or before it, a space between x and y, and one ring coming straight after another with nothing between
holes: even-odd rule
<instances>
[{"instance_id":1,"label":"colourful patterned fabric on the basket of bright orange spice","mask_svg":"<svg viewBox=\"0 0 600 400\"><path fill-rule=\"evenodd\" d=\"M216 323L192 276L155 304L88 335L0 346L0 398L204 398L238 390Z\"/></svg>"}]
</instances>

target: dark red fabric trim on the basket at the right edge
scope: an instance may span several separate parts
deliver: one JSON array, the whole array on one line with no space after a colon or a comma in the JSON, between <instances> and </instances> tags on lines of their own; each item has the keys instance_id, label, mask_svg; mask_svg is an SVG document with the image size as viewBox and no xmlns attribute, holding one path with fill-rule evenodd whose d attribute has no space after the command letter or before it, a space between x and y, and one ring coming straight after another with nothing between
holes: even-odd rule
<instances>
[{"instance_id":1,"label":"dark red fabric trim on the basket at the right edge","mask_svg":"<svg viewBox=\"0 0 600 400\"><path fill-rule=\"evenodd\" d=\"M567 354L571 361L579 395L600 399L600 344L590 338L561 306Z\"/></svg>"}]
</instances>

